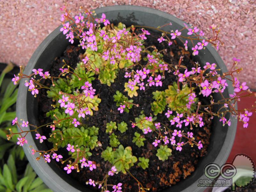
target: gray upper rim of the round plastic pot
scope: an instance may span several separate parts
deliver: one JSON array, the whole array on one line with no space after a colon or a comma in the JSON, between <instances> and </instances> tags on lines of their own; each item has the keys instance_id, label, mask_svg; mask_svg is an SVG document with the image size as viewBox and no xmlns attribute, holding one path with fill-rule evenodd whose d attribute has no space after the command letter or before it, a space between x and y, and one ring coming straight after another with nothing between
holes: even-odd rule
<instances>
[{"instance_id":1,"label":"gray upper rim of the round plastic pot","mask_svg":"<svg viewBox=\"0 0 256 192\"><path fill-rule=\"evenodd\" d=\"M107 6L102 8L97 8L94 10L95 13L100 14L103 12L111 12L111 11L136 11L136 12L149 12L152 14L155 14L160 17L164 17L168 20L172 20L173 22L176 22L180 25L183 25L184 21L159 10L143 7L143 6L135 6L135 5L115 5L115 6ZM58 36L60 32L60 28L62 25L60 25L58 28L56 28L50 35L48 35L44 41L37 47L36 51L33 53L32 57L28 61L28 65L24 70L24 74L29 74L32 69L34 68L36 61L38 60L39 56L44 52L45 48L50 44L50 42ZM223 60L220 58L220 55L217 53L217 51L212 47L208 46L206 47L208 49L213 58L217 61L220 69L222 72L226 72L227 68L223 62ZM17 98L17 117L18 119L28 119L27 116L27 94L28 90L27 87L23 86L25 83L25 79L21 79L18 92L18 98ZM233 87L230 82L229 86L227 87L227 90L229 93L233 93ZM231 151L231 148L233 146L233 142L236 135L236 125L237 120L233 117L230 117L231 120L231 126L228 127L227 135L225 138L225 141L223 143L223 146L218 154L218 156L215 158L213 162L217 164L223 164L228 159L228 155ZM29 127L28 127L29 129ZM37 173L37 175L44 181L44 183L51 188L53 191L72 191L72 192L80 192L81 190L73 187L69 183L67 183L64 179L62 179L48 164L44 163L44 160L41 158L39 161L35 161L35 156L31 154L31 148L29 148L30 145L36 148L35 141L31 135L31 133L28 133L26 136L26 139L28 140L28 144L23 145L24 152L28 158L29 163ZM53 179L54 178L54 179ZM205 179L206 177L202 173L202 176L199 179ZM182 192L186 191L203 191L204 188L197 188L197 183L194 182L192 185L188 186ZM89 190L88 190L89 191Z\"/></svg>"}]
</instances>

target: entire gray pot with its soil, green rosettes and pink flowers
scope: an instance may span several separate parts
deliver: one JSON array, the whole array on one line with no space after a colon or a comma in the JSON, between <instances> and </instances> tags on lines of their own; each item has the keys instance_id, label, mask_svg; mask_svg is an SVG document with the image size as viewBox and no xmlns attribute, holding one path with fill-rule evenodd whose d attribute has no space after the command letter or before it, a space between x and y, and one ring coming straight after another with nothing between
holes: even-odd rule
<instances>
[{"instance_id":1,"label":"entire gray pot with its soil, green rosettes and pink flowers","mask_svg":"<svg viewBox=\"0 0 256 192\"><path fill-rule=\"evenodd\" d=\"M145 7L85 9L75 18L61 9L63 25L13 78L25 84L13 120L21 131L7 137L20 135L54 191L198 190L203 167L227 159L236 118L247 126L255 110L236 110L251 92L234 76L239 60L227 71L210 46L222 44L217 26L204 39Z\"/></svg>"}]
</instances>

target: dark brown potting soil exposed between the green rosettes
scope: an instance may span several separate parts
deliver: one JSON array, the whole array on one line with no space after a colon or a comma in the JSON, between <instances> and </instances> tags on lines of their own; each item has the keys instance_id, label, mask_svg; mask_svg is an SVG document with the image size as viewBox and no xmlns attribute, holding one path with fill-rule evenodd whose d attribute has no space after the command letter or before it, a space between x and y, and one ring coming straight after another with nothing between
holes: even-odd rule
<instances>
[{"instance_id":1,"label":"dark brown potting soil exposed between the green rosettes","mask_svg":"<svg viewBox=\"0 0 256 192\"><path fill-rule=\"evenodd\" d=\"M152 32L151 32L152 34ZM178 64L180 56L184 56L182 65L186 65L189 69L195 66L195 61L192 59L189 52L185 51L183 47L180 47L178 44L173 43L171 46L167 46L165 43L159 44L156 40L159 37L158 34L153 34L148 38L145 42L145 47L149 45L156 45L158 50L167 49L167 52L164 52L164 60L168 63ZM153 51L153 50L151 50ZM76 67L76 64L79 59L79 55L83 54L84 50L82 50L78 46L70 45L67 47L67 50L63 53L62 56L56 58L52 63L52 68L50 70L51 76L58 76L60 73L59 68L62 67L64 59L67 64L69 64L72 68ZM142 55L146 56L146 55ZM145 64L145 61L141 60L141 64ZM136 68L136 67L135 67ZM183 71L181 71L183 72ZM142 168L137 166L137 163L133 167L129 169L129 171L143 184L144 187L150 188L151 191L161 191L164 188L167 188L171 185L176 184L180 180L185 179L196 169L196 164L198 160L204 156L207 151L207 146L209 145L210 135L211 135L211 122L208 121L208 117L205 116L204 126L196 127L192 130L194 136L196 136L196 141L202 140L204 147L199 150L196 146L191 148L188 144L183 146L182 151L176 151L176 148L172 145L168 145L169 148L172 149L172 156L169 156L168 160L160 161L156 156L157 149L159 147L154 147L152 142L155 139L155 134L148 133L143 134L143 132L138 128L132 128L130 120L134 121L135 117L140 115L140 111L143 110L146 116L150 116L153 114L151 111L151 105L153 100L152 92L164 91L168 88L168 85L172 85L175 81L177 82L177 76L174 76L172 73L165 73L165 79L163 80L162 87L146 87L146 91L138 90L138 97L133 97L133 102L139 104L139 107L133 106L128 113L120 114L117 111L116 102L114 102L113 95L116 91L123 92L124 91L124 83L127 82L128 79L124 78L125 71L121 69L118 73L118 76L115 79L115 82L111 84L111 86L107 86L105 84L100 84L99 80L92 81L92 87L96 89L96 94L101 99L99 104L99 111L94 111L93 116L86 116L82 123L86 124L88 127L96 126L99 127L99 135L98 140L101 142L102 147L95 147L95 149L91 150L92 156L89 157L90 160L94 161L97 165L97 169L92 172L83 168L80 169L80 172L73 171L70 176L78 180L82 185L85 185L85 182L89 179L99 180L101 181L105 174L108 174L108 170L111 168L111 164L105 162L103 158L101 158L101 152L109 146L109 135L106 134L106 124L110 121L116 122L116 124L121 123L122 121L128 124L128 130L124 133L120 133L118 130L114 130L113 132L117 135L118 140L124 146L132 147L132 154L139 157L145 157L149 159L149 168L143 170ZM51 81L46 80L45 85L50 86ZM197 90L197 93L199 90ZM123 94L128 97L127 92L123 92ZM46 112L52 110L51 104L54 102L47 98L46 90L42 90L38 95L39 97L39 122L41 124L49 123L52 120L46 117ZM199 95L199 100L202 104L208 104L207 100L205 100L202 96ZM170 125L170 122L164 115L165 111L162 114L157 115L157 121L162 122L166 125ZM171 126L172 130L176 129L176 126ZM191 131L188 127L182 126L181 130L184 132ZM143 135L146 140L144 141L144 147L137 147L135 143L132 143L132 138L134 137L134 132L139 132ZM48 127L43 128L44 135L48 136L51 134L51 129ZM177 141L176 141L177 142ZM47 147L52 148L52 143L47 143ZM46 149L45 149L46 150ZM58 150L58 154L63 156L63 159L68 158L68 151L66 148L60 148ZM58 164L62 169L65 167L65 164ZM64 171L64 170L63 170ZM109 177L108 184L117 184L123 183L123 192L127 191L138 191L137 182L127 173L123 174L119 172L117 175ZM92 188L91 186L87 186ZM109 188L111 190L112 187ZM92 190L99 191L98 187L92 188Z\"/></svg>"}]
</instances>

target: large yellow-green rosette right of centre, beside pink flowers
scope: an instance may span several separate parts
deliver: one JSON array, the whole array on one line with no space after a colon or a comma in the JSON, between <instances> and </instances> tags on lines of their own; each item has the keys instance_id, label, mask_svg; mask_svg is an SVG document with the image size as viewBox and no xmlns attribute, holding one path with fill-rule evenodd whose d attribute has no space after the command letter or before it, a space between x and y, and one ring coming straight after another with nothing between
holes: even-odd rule
<instances>
[{"instance_id":1,"label":"large yellow-green rosette right of centre, beside pink flowers","mask_svg":"<svg viewBox=\"0 0 256 192\"><path fill-rule=\"evenodd\" d=\"M168 89L164 91L168 107L171 108L173 111L177 111L178 113L184 113L188 110L194 111L196 109L195 103L198 101L198 98L195 98L195 103L191 105L190 109L186 107L186 104L188 104L188 94L191 93L188 85L186 84L185 86L183 86L179 92L177 92L177 90L178 85L176 82L173 82L173 84L169 85Z\"/></svg>"}]
</instances>

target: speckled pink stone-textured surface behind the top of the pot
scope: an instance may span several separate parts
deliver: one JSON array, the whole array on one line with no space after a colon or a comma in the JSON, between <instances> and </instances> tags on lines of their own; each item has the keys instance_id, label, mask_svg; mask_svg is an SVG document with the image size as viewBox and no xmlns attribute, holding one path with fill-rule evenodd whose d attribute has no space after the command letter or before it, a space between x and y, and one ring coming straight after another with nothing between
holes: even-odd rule
<instances>
[{"instance_id":1,"label":"speckled pink stone-textured surface behind the top of the pot","mask_svg":"<svg viewBox=\"0 0 256 192\"><path fill-rule=\"evenodd\" d=\"M232 57L241 59L240 81L256 88L256 2L254 0L71 0L68 9L79 13L109 5L140 5L170 13L198 26L209 35L209 26L220 24L225 46L219 53L229 68ZM61 0L0 0L0 62L26 65L36 47L60 22Z\"/></svg>"}]
</instances>

